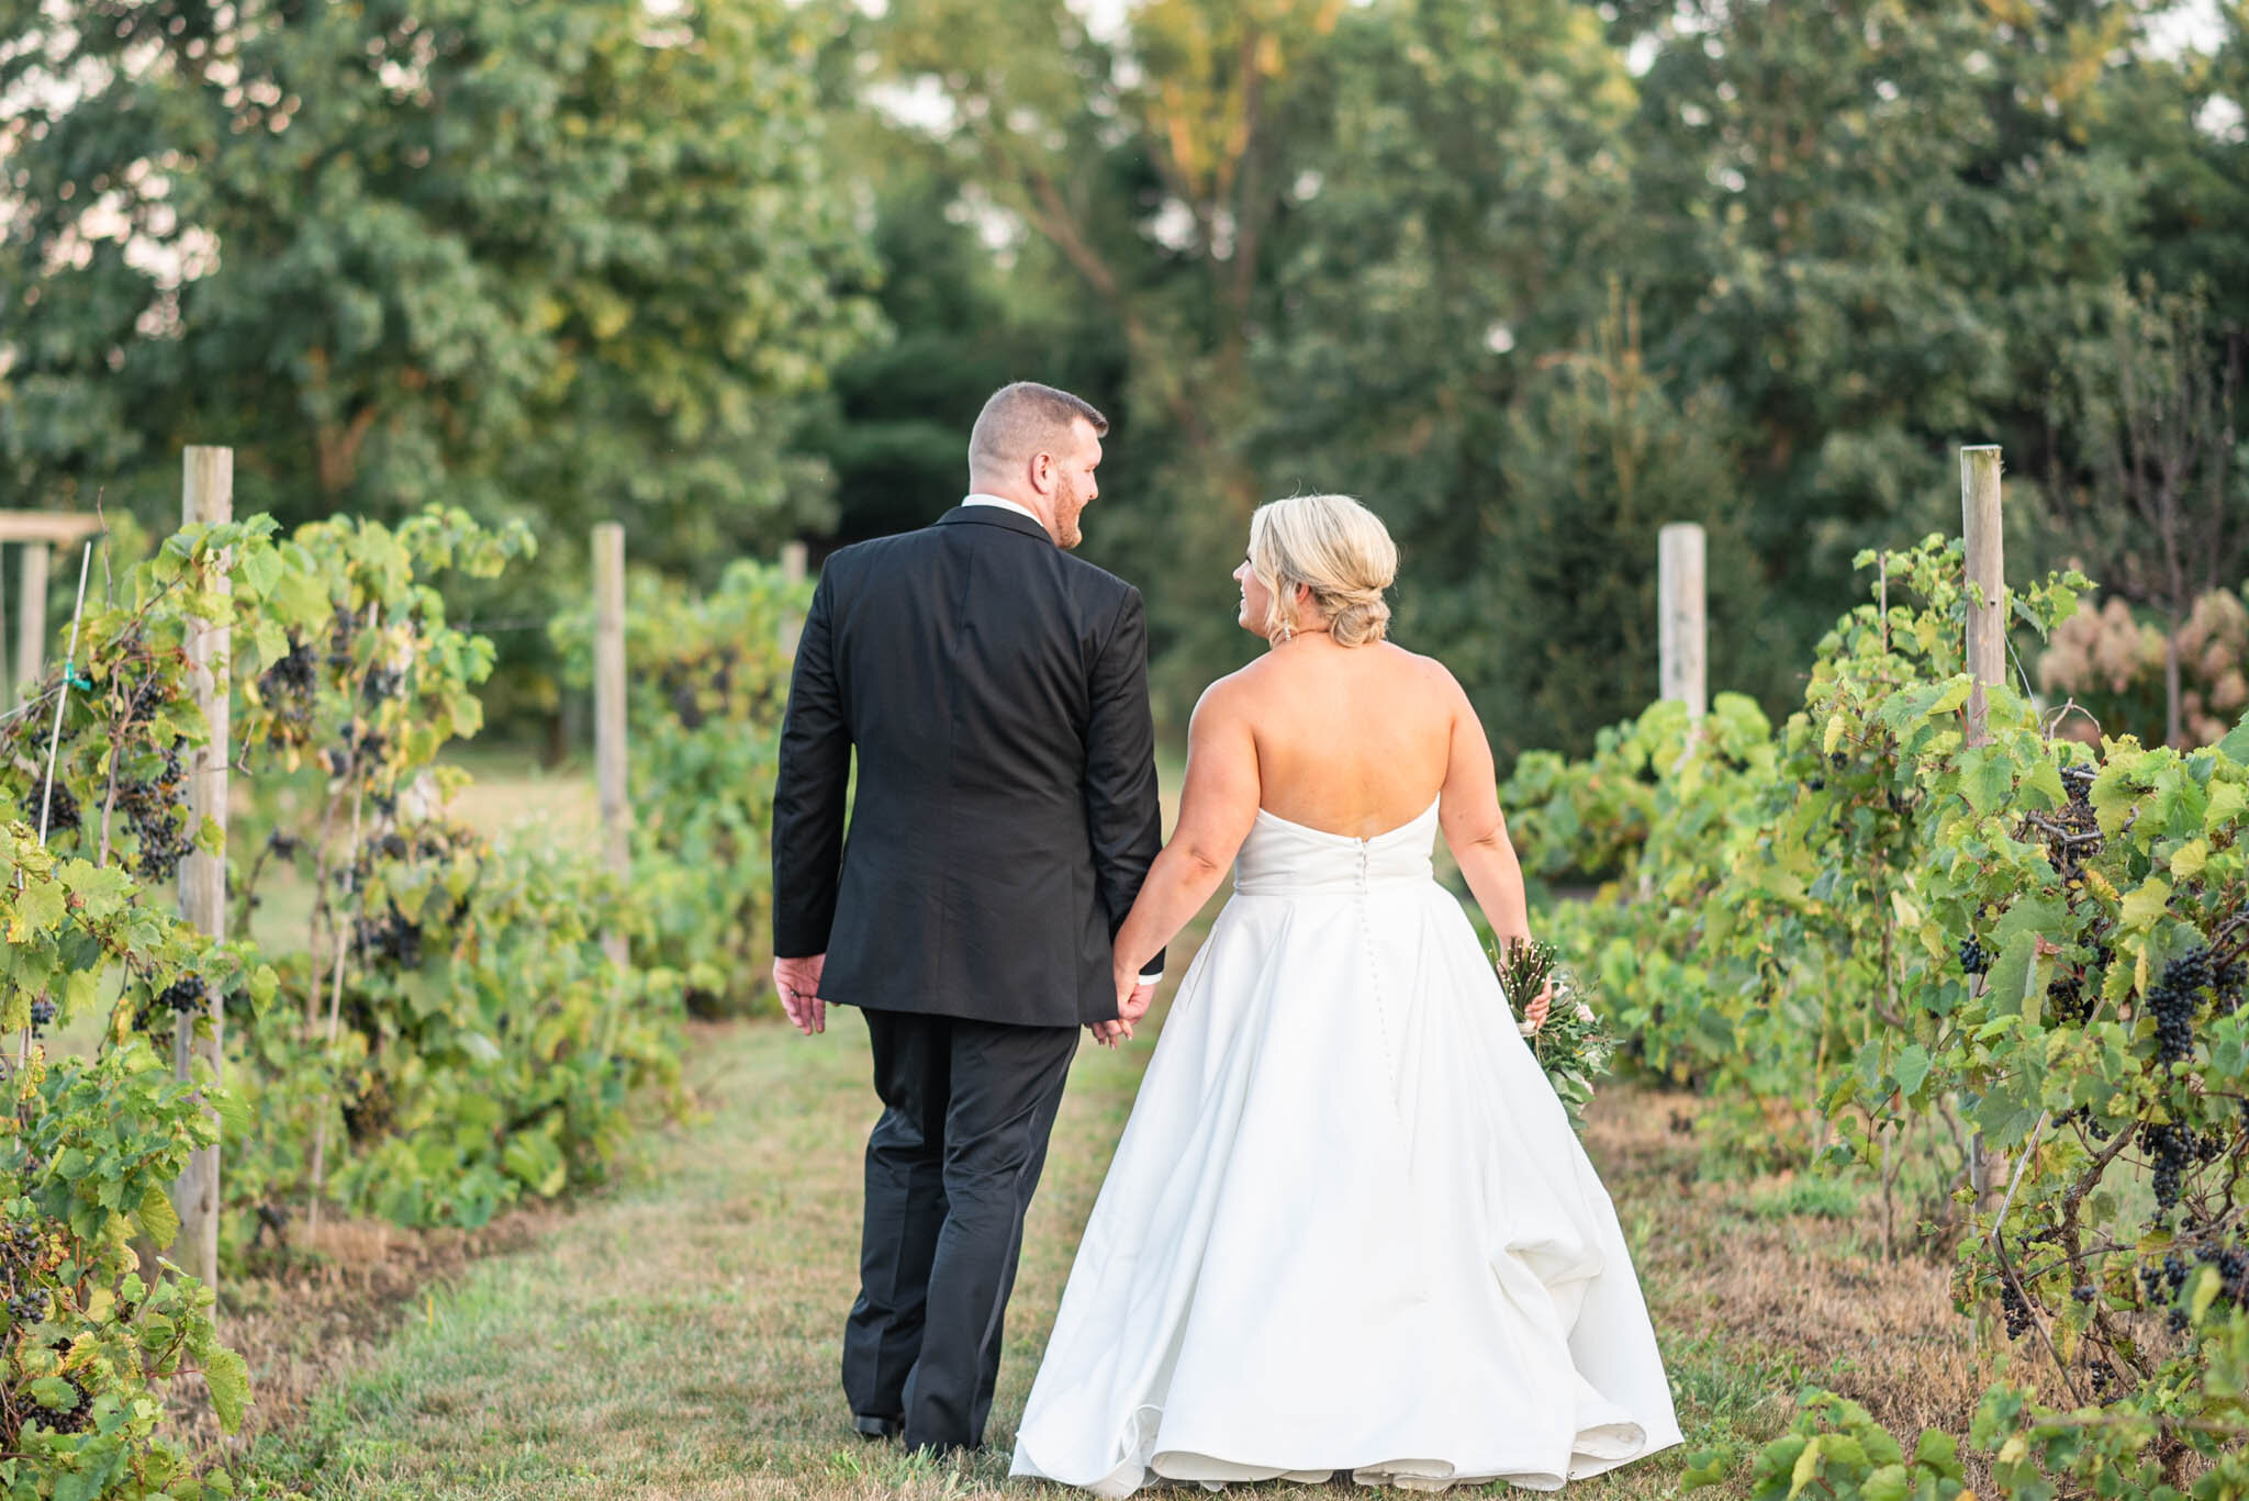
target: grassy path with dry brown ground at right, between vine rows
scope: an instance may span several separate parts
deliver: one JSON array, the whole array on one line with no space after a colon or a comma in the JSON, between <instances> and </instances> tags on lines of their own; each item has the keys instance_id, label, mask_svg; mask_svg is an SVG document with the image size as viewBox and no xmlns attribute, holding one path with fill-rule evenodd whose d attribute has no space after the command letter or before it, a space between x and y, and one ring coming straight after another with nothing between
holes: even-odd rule
<instances>
[{"instance_id":1,"label":"grassy path with dry brown ground at right, between vine rows","mask_svg":"<svg viewBox=\"0 0 2249 1501\"><path fill-rule=\"evenodd\" d=\"M306 1422L263 1442L261 1465L315 1496L369 1501L1028 1494L1005 1485L1008 1436L1147 1049L1082 1051L1028 1229L994 1445L929 1465L852 1436L834 1382L873 1116L857 1015L837 1013L819 1042L771 1022L695 1042L704 1121L657 1136L618 1190L412 1307ZM1954 1332L1945 1271L1885 1267L1871 1222L1826 1186L1711 1177L1678 1130L1696 1107L1613 1087L1590 1127L1687 1449L1770 1438L1806 1379L1907 1431L1959 1431L1986 1373ZM1671 1494L1687 1449L1570 1494ZM1253 1494L1313 1492L1331 1494Z\"/></svg>"}]
</instances>

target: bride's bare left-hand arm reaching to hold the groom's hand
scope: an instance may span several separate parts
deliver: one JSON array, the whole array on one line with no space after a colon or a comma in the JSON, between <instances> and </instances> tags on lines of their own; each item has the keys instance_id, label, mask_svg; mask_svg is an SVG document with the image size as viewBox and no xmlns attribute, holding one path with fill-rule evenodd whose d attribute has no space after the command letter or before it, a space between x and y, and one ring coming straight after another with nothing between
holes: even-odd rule
<instances>
[{"instance_id":1,"label":"bride's bare left-hand arm reaching to hold the groom's hand","mask_svg":"<svg viewBox=\"0 0 2249 1501\"><path fill-rule=\"evenodd\" d=\"M1118 929L1120 1004L1131 995L1140 965L1169 945L1219 889L1257 821L1257 740L1250 736L1241 684L1221 677L1203 691L1187 725L1187 788L1178 797L1178 828L1147 869L1131 916Z\"/></svg>"}]
</instances>

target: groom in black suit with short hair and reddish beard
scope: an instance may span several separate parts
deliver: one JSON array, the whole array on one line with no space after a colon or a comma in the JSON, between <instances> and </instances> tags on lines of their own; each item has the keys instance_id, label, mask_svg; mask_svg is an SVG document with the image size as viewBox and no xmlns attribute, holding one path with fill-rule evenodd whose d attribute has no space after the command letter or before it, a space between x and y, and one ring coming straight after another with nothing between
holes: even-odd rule
<instances>
[{"instance_id":1,"label":"groom in black suit with short hair and reddish beard","mask_svg":"<svg viewBox=\"0 0 2249 1501\"><path fill-rule=\"evenodd\" d=\"M1111 938L1163 824L1140 594L1068 554L1104 432L1068 392L994 392L972 495L828 558L796 648L774 986L805 1035L866 1013L884 1112L843 1395L911 1447L983 1442L1077 1028L1131 1035L1163 970L1120 1019Z\"/></svg>"}]
</instances>

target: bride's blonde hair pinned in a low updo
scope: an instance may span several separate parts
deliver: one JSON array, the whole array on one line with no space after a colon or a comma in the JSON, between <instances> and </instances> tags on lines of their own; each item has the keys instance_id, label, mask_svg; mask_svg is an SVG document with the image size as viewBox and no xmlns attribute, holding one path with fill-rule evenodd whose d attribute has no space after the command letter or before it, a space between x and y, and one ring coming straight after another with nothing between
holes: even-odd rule
<instances>
[{"instance_id":1,"label":"bride's blonde hair pinned in a low updo","mask_svg":"<svg viewBox=\"0 0 2249 1501\"><path fill-rule=\"evenodd\" d=\"M1311 590L1311 608L1327 619L1336 646L1367 646L1390 632L1383 590L1399 572L1390 531L1349 495L1291 495L1250 515L1250 572L1273 596L1264 619L1266 641L1280 644L1304 628L1295 587Z\"/></svg>"}]
</instances>

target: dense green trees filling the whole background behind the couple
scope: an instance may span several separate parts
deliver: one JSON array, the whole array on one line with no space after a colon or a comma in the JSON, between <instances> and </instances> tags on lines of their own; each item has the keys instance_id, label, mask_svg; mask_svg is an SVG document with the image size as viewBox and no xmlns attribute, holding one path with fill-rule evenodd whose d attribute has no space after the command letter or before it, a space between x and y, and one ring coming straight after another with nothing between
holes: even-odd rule
<instances>
[{"instance_id":1,"label":"dense green trees filling the whole background behind the couple","mask_svg":"<svg viewBox=\"0 0 2249 1501\"><path fill-rule=\"evenodd\" d=\"M2146 576L2105 371L2132 308L2202 308L2204 371L2249 324L2249 20L2168 9L0 0L0 473L153 506L232 441L288 515L531 515L576 592L598 515L690 574L918 524L1030 376L1116 421L1086 554L1174 727L1309 488L1502 754L1653 691L1669 520L1711 686L1781 709L1959 443L2020 572Z\"/></svg>"}]
</instances>

